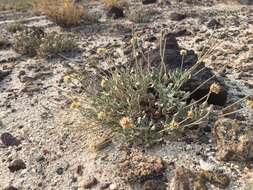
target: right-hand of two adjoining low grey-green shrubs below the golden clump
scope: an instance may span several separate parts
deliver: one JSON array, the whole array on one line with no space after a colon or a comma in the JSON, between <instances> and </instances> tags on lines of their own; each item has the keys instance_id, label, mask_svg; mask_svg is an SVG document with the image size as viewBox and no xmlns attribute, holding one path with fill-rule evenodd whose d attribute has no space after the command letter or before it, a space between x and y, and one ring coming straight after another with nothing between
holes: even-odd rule
<instances>
[{"instance_id":1,"label":"right-hand of two adjoining low grey-green shrubs below the golden clump","mask_svg":"<svg viewBox=\"0 0 253 190\"><path fill-rule=\"evenodd\" d=\"M38 54L53 56L60 53L71 53L77 49L78 46L72 38L53 32L42 38Z\"/></svg>"}]
</instances>

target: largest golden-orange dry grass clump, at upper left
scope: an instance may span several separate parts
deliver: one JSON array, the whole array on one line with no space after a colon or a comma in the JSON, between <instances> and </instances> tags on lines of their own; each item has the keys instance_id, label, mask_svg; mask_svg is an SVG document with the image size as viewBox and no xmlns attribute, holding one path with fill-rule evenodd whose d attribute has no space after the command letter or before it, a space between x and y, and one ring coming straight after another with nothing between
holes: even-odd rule
<instances>
[{"instance_id":1,"label":"largest golden-orange dry grass clump, at upper left","mask_svg":"<svg viewBox=\"0 0 253 190\"><path fill-rule=\"evenodd\" d=\"M48 16L53 22L61 27L77 26L87 15L83 5L71 0L42 0L34 5L35 10Z\"/></svg>"}]
</instances>

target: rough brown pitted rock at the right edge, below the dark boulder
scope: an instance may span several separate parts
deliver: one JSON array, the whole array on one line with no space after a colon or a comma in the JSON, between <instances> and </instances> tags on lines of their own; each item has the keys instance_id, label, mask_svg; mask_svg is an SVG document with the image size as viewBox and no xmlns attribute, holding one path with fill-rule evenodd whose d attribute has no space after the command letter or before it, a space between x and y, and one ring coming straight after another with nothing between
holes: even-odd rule
<instances>
[{"instance_id":1,"label":"rough brown pitted rock at the right edge, below the dark boulder","mask_svg":"<svg viewBox=\"0 0 253 190\"><path fill-rule=\"evenodd\" d=\"M220 160L253 160L252 126L223 118L215 123L213 135L217 142L217 157Z\"/></svg>"}]
</instances>

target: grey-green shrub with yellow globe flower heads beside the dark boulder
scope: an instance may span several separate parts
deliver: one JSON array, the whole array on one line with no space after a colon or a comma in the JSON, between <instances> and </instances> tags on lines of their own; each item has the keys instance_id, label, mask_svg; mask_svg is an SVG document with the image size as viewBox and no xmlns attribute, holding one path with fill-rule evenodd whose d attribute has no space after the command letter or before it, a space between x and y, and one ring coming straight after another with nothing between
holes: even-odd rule
<instances>
[{"instance_id":1,"label":"grey-green shrub with yellow globe flower heads beside the dark boulder","mask_svg":"<svg viewBox=\"0 0 253 190\"><path fill-rule=\"evenodd\" d=\"M85 72L67 80L80 82L92 102L94 116L102 126L124 137L125 142L149 146L162 141L168 134L209 121L212 106L208 105L207 99L211 93L219 93L220 86L213 84L204 97L206 100L202 98L202 101L190 104L187 104L190 93L181 90L196 66L166 72L163 62L157 67L144 66L137 60L131 65L114 65L105 49L99 48L97 53L109 59L107 71L98 71L100 74L95 79ZM71 107L85 113L84 99L87 100L86 97L75 98Z\"/></svg>"}]
</instances>

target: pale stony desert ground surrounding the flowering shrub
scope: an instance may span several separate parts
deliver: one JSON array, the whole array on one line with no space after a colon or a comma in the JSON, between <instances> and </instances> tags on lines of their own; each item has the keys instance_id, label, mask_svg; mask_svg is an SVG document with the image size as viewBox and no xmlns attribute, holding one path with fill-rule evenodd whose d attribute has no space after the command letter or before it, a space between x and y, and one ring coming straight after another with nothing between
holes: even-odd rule
<instances>
[{"instance_id":1,"label":"pale stony desert ground surrounding the flowering shrub","mask_svg":"<svg viewBox=\"0 0 253 190\"><path fill-rule=\"evenodd\" d=\"M124 55L115 59L127 62L133 30L145 41L144 49L154 47L162 30L175 34L180 47L195 52L215 38L206 65L227 86L228 103L253 95L253 7L188 2L132 1L130 10L154 12L149 22L134 23L106 18L103 4L91 1L89 10L102 15L99 22L68 30L30 11L0 11L1 34L10 43L14 36L8 25L22 20L28 27L71 34L81 50L75 56L44 59L22 56L12 45L1 48L0 189L252 190L250 109L147 150L110 143L91 151L103 131L96 121L68 109L62 96L69 88L63 82L68 65L99 60L97 48L111 53L123 49Z\"/></svg>"}]
</instances>

